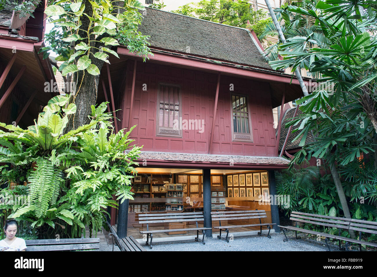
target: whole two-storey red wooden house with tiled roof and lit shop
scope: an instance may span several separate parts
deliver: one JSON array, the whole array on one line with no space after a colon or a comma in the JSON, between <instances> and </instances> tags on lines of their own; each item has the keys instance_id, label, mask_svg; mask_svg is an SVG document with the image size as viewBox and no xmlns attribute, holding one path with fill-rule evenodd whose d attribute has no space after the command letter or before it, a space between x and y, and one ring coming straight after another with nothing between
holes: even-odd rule
<instances>
[{"instance_id":1,"label":"whole two-storey red wooden house with tiled roof and lit shop","mask_svg":"<svg viewBox=\"0 0 377 277\"><path fill-rule=\"evenodd\" d=\"M151 8L143 15L139 30L150 36L153 56L143 62L119 46L98 91L99 102L118 110L116 131L136 125L130 137L143 145L135 199L120 205L119 215L111 210L118 235L142 239L140 213L203 211L202 225L213 227L219 222L211 211L257 209L279 224L268 196L276 195L274 170L289 161L279 157L272 110L301 96L298 81L264 61L251 30ZM160 236L182 234L190 232Z\"/></svg>"}]
</instances>

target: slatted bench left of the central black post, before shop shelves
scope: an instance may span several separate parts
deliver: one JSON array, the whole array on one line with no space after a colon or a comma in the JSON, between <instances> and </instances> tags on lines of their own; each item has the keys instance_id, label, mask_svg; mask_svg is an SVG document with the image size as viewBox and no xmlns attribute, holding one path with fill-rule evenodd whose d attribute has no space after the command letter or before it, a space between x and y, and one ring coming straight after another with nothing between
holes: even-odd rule
<instances>
[{"instance_id":1,"label":"slatted bench left of the central black post, before shop shelves","mask_svg":"<svg viewBox=\"0 0 377 277\"><path fill-rule=\"evenodd\" d=\"M147 230L146 231L140 231L141 234L147 234L147 240L146 245L149 245L150 249L152 249L152 239L153 234L155 233L166 233L166 232L172 232L172 231L196 231L196 237L195 241L201 240L203 244L204 242L204 235L205 230L211 230L211 228L205 228L205 227L198 227L198 222L204 221L203 213L202 212L190 212L190 213L144 213L139 214L139 224L146 224ZM162 224L169 224L173 222L195 222L196 228L181 228L181 229L175 229L175 228L168 228L164 230L149 230L149 224L153 223L162 223ZM199 239L199 231L202 232L203 237L202 239ZM149 236L150 236L150 242L149 242Z\"/></svg>"}]
</instances>

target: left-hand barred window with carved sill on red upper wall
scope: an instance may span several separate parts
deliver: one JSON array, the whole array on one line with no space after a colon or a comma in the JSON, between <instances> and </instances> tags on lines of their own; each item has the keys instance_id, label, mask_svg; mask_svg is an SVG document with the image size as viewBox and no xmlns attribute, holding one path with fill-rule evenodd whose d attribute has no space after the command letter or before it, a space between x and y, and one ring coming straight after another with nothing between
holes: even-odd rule
<instances>
[{"instance_id":1,"label":"left-hand barred window with carved sill on red upper wall","mask_svg":"<svg viewBox=\"0 0 377 277\"><path fill-rule=\"evenodd\" d=\"M181 88L178 85L158 84L157 135L182 137L180 127Z\"/></svg>"}]
</instances>

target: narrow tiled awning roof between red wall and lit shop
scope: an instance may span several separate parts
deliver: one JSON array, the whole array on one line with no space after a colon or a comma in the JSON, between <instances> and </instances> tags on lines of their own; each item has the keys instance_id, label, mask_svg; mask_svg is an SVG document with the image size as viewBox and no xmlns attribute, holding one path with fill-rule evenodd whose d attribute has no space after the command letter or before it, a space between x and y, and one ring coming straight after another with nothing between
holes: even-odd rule
<instances>
[{"instance_id":1,"label":"narrow tiled awning roof between red wall and lit shop","mask_svg":"<svg viewBox=\"0 0 377 277\"><path fill-rule=\"evenodd\" d=\"M288 164L290 161L280 157L256 157L238 155L187 154L142 151L138 160L186 161L202 163L250 163L250 164Z\"/></svg>"}]
</instances>

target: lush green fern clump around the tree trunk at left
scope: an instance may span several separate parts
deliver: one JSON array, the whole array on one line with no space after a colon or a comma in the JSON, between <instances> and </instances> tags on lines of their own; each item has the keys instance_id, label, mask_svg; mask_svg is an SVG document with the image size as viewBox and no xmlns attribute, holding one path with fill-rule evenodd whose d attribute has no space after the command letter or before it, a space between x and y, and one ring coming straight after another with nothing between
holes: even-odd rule
<instances>
[{"instance_id":1,"label":"lush green fern clump around the tree trunk at left","mask_svg":"<svg viewBox=\"0 0 377 277\"><path fill-rule=\"evenodd\" d=\"M9 218L29 222L26 234L40 238L54 238L56 233L80 237L85 225L97 233L106 208L118 205L112 195L121 202L133 199L130 178L136 173L135 160L141 147L133 146L128 136L135 126L128 132L113 133L112 116L104 113L105 102L92 106L88 125L63 134L67 116L76 111L70 98L52 98L27 130L0 123L9 130L0 132L0 145L12 154L2 158L8 158L14 168L25 166L28 181L22 192L28 201L0 205L0 209ZM0 170L2 176L10 175L5 167ZM0 191L7 197L17 193L8 188Z\"/></svg>"}]
</instances>

